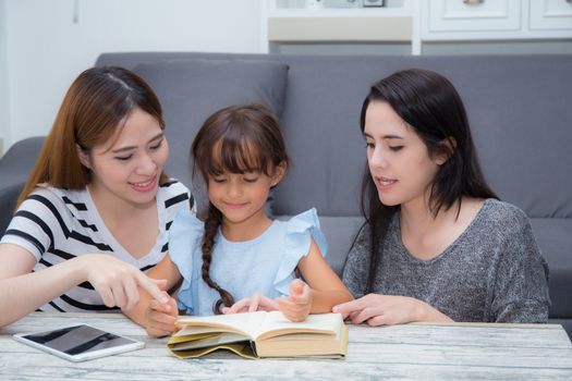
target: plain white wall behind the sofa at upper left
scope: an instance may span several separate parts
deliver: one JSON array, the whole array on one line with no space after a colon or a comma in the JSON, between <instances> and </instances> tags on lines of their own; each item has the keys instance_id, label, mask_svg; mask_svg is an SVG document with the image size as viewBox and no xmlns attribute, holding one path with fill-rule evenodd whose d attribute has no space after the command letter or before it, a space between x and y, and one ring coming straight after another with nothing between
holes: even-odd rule
<instances>
[{"instance_id":1,"label":"plain white wall behind the sofa at upper left","mask_svg":"<svg viewBox=\"0 0 572 381\"><path fill-rule=\"evenodd\" d=\"M8 30L0 77L9 78L10 100L4 149L48 133L69 85L101 52L258 52L261 46L264 0L0 1ZM1 52L0 45L0 59Z\"/></svg>"}]
</instances>

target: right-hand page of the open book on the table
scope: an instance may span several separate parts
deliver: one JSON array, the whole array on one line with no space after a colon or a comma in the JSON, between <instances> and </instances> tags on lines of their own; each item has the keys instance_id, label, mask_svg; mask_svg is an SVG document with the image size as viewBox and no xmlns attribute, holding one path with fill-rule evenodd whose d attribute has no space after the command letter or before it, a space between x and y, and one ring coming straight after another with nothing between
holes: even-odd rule
<instances>
[{"instance_id":1,"label":"right-hand page of the open book on the table","mask_svg":"<svg viewBox=\"0 0 572 381\"><path fill-rule=\"evenodd\" d=\"M255 337L265 340L290 333L324 333L337 336L341 332L342 325L343 319L340 314L309 315L302 322L292 322L282 312L271 311L267 314L259 333Z\"/></svg>"}]
</instances>

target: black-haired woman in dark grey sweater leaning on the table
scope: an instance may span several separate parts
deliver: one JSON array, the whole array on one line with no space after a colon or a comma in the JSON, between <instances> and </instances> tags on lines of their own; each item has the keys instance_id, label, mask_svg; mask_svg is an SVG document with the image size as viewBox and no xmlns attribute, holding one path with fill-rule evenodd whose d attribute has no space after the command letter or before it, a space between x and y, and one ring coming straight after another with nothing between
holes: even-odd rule
<instances>
[{"instance_id":1,"label":"black-haired woman in dark grey sweater leaning on the table","mask_svg":"<svg viewBox=\"0 0 572 381\"><path fill-rule=\"evenodd\" d=\"M461 98L441 75L398 72L361 118L366 223L336 306L354 323L546 322L548 268L524 212L486 184Z\"/></svg>"}]
</instances>

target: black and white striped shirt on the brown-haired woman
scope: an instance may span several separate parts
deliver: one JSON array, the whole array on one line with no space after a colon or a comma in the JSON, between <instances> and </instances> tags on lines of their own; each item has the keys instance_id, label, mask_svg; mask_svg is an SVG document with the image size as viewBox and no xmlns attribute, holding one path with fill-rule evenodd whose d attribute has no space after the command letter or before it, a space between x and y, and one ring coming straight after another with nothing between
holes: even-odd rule
<instances>
[{"instance_id":1,"label":"black and white striped shirt on the brown-haired woman","mask_svg":"<svg viewBox=\"0 0 572 381\"><path fill-rule=\"evenodd\" d=\"M109 254L142 271L157 265L169 250L168 232L175 214L190 209L193 198L178 181L161 185L157 193L159 234L144 257L133 258L113 237L99 216L89 192L38 186L17 209L0 244L15 244L37 260L41 271L83 254ZM194 209L194 208L193 208ZM44 311L119 311L104 305L92 284L84 282L39 308Z\"/></svg>"}]
</instances>

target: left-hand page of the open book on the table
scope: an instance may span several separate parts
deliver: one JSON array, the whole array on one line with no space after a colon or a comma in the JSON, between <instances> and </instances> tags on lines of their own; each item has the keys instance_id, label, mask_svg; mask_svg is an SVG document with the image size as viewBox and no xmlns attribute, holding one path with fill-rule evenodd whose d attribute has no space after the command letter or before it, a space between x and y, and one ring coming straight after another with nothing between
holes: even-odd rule
<instances>
[{"instance_id":1,"label":"left-hand page of the open book on the table","mask_svg":"<svg viewBox=\"0 0 572 381\"><path fill-rule=\"evenodd\" d=\"M184 328L173 336L207 332L234 332L254 339L265 319L265 311L250 314L183 316L177 320Z\"/></svg>"}]
</instances>

